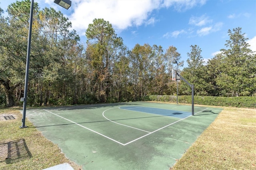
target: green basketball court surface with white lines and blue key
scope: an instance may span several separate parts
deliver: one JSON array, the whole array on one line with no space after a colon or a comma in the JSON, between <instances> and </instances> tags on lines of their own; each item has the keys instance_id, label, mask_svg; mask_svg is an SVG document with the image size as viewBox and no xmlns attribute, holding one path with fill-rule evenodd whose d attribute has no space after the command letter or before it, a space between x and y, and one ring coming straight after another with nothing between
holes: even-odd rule
<instances>
[{"instance_id":1,"label":"green basketball court surface with white lines and blue key","mask_svg":"<svg viewBox=\"0 0 256 170\"><path fill-rule=\"evenodd\" d=\"M169 170L220 108L130 102L29 109L26 117L84 170Z\"/></svg>"}]
</instances>

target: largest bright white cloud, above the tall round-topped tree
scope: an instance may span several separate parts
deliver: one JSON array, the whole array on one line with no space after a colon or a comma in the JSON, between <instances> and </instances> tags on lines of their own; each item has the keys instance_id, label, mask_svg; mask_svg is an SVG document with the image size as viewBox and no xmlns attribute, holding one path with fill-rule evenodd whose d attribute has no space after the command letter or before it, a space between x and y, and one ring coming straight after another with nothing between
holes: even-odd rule
<instances>
[{"instance_id":1,"label":"largest bright white cloud, above the tall round-topped tree","mask_svg":"<svg viewBox=\"0 0 256 170\"><path fill-rule=\"evenodd\" d=\"M154 18L148 16L160 6L160 0L73 0L72 6L74 13L69 19L73 29L81 34L95 18L109 21L116 30L153 24Z\"/></svg>"}]
</instances>

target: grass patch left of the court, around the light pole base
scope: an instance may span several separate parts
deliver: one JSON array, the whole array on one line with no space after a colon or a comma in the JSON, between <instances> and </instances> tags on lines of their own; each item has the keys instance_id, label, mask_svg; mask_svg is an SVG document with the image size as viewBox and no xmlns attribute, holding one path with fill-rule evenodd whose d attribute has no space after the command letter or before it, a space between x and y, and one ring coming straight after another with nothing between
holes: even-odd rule
<instances>
[{"instance_id":1,"label":"grass patch left of the court, around the light pole base","mask_svg":"<svg viewBox=\"0 0 256 170\"><path fill-rule=\"evenodd\" d=\"M75 170L80 166L68 160L60 148L39 132L28 120L22 125L22 114L15 109L1 109L0 117L13 115L14 120L0 120L0 169L41 170L62 163L69 163Z\"/></svg>"}]
</instances>

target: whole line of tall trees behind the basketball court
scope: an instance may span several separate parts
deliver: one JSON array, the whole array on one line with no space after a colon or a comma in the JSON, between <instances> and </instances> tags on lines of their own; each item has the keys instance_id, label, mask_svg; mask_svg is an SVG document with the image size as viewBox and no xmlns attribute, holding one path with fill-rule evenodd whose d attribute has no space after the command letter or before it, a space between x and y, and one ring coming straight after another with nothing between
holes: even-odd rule
<instances>
[{"instance_id":1,"label":"whole line of tall trees behind the basketball court","mask_svg":"<svg viewBox=\"0 0 256 170\"><path fill-rule=\"evenodd\" d=\"M24 96L30 1L0 8L0 102L19 105ZM53 8L34 3L28 105L68 105L142 100L147 95L174 95L173 61L184 61L176 47L136 44L128 49L112 25L94 19L86 43L71 22ZM182 77L194 84L195 95L252 96L256 93L256 55L241 28L228 30L227 49L207 63L198 45L191 45ZM191 89L179 83L179 95Z\"/></svg>"}]
</instances>

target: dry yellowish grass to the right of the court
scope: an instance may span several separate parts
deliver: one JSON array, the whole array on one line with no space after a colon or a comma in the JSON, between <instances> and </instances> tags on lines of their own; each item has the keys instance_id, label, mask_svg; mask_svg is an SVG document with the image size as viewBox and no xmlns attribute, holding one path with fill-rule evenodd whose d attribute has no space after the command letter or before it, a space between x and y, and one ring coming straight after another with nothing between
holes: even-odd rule
<instances>
[{"instance_id":1,"label":"dry yellowish grass to the right of the court","mask_svg":"<svg viewBox=\"0 0 256 170\"><path fill-rule=\"evenodd\" d=\"M256 110L225 107L172 170L256 170Z\"/></svg>"}]
</instances>

